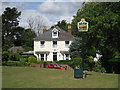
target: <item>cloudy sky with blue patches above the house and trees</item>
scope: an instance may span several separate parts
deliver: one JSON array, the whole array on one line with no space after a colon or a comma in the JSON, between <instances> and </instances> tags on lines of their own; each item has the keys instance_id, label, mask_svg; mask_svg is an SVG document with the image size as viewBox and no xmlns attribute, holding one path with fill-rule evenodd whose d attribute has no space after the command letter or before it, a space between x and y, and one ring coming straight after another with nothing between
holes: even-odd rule
<instances>
[{"instance_id":1,"label":"cloudy sky with blue patches above the house and trees","mask_svg":"<svg viewBox=\"0 0 120 90\"><path fill-rule=\"evenodd\" d=\"M3 2L2 12L6 7L16 7L21 11L22 27L28 27L27 19L36 16L41 16L46 26L50 27L63 19L70 23L77 10L82 7L82 2Z\"/></svg>"}]
</instances>

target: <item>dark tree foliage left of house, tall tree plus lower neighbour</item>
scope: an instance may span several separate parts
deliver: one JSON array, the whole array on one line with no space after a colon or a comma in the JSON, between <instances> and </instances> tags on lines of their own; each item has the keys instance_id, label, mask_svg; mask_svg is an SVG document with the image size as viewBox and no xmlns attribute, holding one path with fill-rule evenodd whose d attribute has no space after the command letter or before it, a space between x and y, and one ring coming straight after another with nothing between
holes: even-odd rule
<instances>
[{"instance_id":1,"label":"dark tree foliage left of house, tall tree plus lower neighbour","mask_svg":"<svg viewBox=\"0 0 120 90\"><path fill-rule=\"evenodd\" d=\"M26 46L25 50L27 47L29 47L29 50L33 48L33 38L36 34L31 29L24 29L18 26L20 15L21 12L14 7L7 7L1 15L3 51L7 51L12 46Z\"/></svg>"}]
</instances>

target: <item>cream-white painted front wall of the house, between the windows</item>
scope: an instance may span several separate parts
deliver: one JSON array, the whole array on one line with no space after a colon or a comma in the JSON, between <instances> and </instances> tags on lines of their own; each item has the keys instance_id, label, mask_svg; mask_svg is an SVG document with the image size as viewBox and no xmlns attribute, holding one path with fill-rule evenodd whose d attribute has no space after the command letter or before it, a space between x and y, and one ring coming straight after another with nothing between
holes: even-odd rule
<instances>
[{"instance_id":1,"label":"cream-white painted front wall of the house, between the windows","mask_svg":"<svg viewBox=\"0 0 120 90\"><path fill-rule=\"evenodd\" d=\"M70 41L70 44L72 41ZM57 41L57 48L53 48L53 41L45 41L45 48L40 47L40 41L34 41L34 55L38 58L36 51L48 52L47 61L53 61L53 52L57 52L57 59L63 60L63 55L60 51L69 51L69 48L65 47L65 41Z\"/></svg>"}]
</instances>

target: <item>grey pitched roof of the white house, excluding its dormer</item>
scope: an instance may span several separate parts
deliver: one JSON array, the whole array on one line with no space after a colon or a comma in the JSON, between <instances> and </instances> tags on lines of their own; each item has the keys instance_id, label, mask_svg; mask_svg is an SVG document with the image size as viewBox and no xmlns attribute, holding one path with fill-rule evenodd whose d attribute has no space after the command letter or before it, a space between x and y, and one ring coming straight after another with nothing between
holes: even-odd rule
<instances>
[{"instance_id":1,"label":"grey pitched roof of the white house, excluding its dormer","mask_svg":"<svg viewBox=\"0 0 120 90\"><path fill-rule=\"evenodd\" d=\"M58 38L52 38L52 30L49 30L39 36L37 36L36 38L34 38L34 40L45 40L45 41L63 41L63 40L74 40L74 36L70 35L68 32L66 32L65 30L61 29L60 27L56 26L55 27L57 30L59 30L59 36Z\"/></svg>"}]
</instances>

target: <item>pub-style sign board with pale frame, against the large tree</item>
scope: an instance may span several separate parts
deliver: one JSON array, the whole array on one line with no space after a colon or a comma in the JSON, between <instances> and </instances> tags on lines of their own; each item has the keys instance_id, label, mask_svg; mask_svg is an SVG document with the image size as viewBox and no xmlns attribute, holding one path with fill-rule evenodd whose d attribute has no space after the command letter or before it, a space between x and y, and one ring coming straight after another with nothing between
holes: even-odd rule
<instances>
[{"instance_id":1,"label":"pub-style sign board with pale frame, against the large tree","mask_svg":"<svg viewBox=\"0 0 120 90\"><path fill-rule=\"evenodd\" d=\"M87 32L88 31L88 22L86 22L84 19L81 19L81 21L78 22L77 27L78 27L78 31Z\"/></svg>"}]
</instances>

